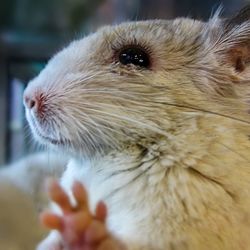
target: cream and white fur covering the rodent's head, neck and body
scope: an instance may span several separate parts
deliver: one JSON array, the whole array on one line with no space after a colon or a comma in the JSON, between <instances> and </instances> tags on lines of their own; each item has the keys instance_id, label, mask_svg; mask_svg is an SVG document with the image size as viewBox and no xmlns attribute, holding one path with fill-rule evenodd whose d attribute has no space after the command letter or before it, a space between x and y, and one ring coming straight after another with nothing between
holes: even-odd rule
<instances>
[{"instance_id":1,"label":"cream and white fur covering the rodent's head, neck and body","mask_svg":"<svg viewBox=\"0 0 250 250\"><path fill-rule=\"evenodd\" d=\"M104 200L128 250L250 249L250 74L228 59L249 27L226 33L217 17L105 27L26 89L48 108L47 123L27 109L35 137L73 156L62 185L70 193L78 179L92 206ZM148 50L149 70L117 61L131 44Z\"/></svg>"}]
</instances>

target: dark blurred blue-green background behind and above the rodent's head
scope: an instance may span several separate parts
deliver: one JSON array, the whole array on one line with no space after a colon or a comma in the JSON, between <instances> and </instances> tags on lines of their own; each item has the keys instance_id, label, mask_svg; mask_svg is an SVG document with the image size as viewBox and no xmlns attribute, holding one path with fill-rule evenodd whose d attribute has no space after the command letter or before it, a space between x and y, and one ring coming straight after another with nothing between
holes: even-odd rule
<instances>
[{"instance_id":1,"label":"dark blurred blue-green background behind and above the rodent's head","mask_svg":"<svg viewBox=\"0 0 250 250\"><path fill-rule=\"evenodd\" d=\"M104 24L189 16L206 20L224 6L227 16L249 0L1 0L0 165L38 148L25 121L27 82L60 48Z\"/></svg>"}]
</instances>

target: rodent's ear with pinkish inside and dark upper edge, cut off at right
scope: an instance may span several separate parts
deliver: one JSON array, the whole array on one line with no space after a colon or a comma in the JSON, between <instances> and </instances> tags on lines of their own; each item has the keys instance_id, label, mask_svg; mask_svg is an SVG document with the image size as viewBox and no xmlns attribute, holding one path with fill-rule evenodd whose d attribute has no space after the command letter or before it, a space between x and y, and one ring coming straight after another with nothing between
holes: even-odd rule
<instances>
[{"instance_id":1,"label":"rodent's ear with pinkish inside and dark upper edge, cut off at right","mask_svg":"<svg viewBox=\"0 0 250 250\"><path fill-rule=\"evenodd\" d=\"M250 5L231 18L219 19L217 15L211 24L217 30L213 48L222 62L239 73L248 69L250 74Z\"/></svg>"}]
</instances>

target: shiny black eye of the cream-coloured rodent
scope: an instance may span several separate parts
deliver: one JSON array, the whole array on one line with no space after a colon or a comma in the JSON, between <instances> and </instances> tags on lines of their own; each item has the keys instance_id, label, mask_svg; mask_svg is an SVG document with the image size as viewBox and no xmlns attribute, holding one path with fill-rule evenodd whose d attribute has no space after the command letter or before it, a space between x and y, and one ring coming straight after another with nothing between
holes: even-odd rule
<instances>
[{"instance_id":1,"label":"shiny black eye of the cream-coloured rodent","mask_svg":"<svg viewBox=\"0 0 250 250\"><path fill-rule=\"evenodd\" d=\"M119 61L124 65L133 64L143 68L149 68L150 66L148 53L136 47L129 47L121 50L119 53Z\"/></svg>"}]
</instances>

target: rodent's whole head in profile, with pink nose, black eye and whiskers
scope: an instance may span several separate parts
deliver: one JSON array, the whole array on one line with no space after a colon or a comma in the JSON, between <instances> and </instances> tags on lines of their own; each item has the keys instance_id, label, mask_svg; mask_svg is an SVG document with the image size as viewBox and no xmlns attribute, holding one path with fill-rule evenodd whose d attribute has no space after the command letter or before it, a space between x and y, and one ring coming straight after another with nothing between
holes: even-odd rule
<instances>
[{"instance_id":1,"label":"rodent's whole head in profile, with pink nose, black eye and whiskers","mask_svg":"<svg viewBox=\"0 0 250 250\"><path fill-rule=\"evenodd\" d=\"M249 34L249 21L218 16L104 27L72 42L29 83L33 134L92 155L170 138L195 116L247 123Z\"/></svg>"}]
</instances>

